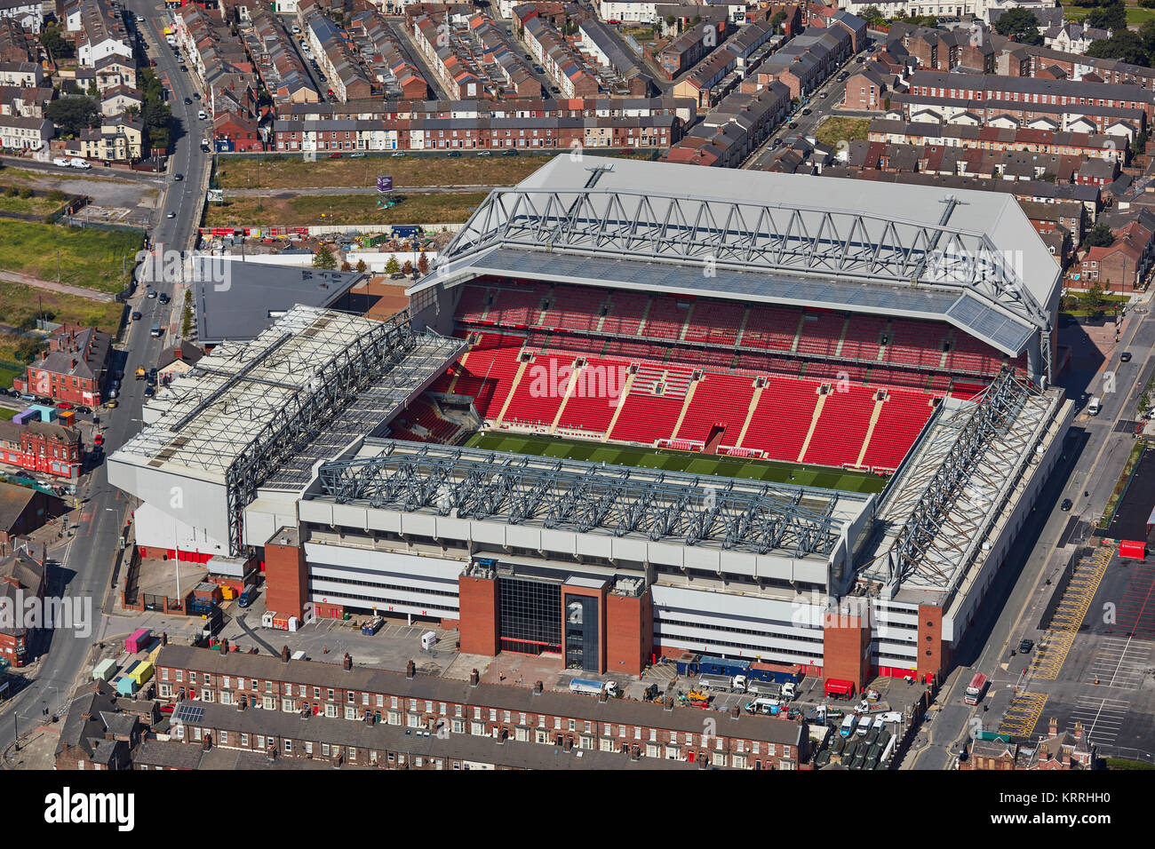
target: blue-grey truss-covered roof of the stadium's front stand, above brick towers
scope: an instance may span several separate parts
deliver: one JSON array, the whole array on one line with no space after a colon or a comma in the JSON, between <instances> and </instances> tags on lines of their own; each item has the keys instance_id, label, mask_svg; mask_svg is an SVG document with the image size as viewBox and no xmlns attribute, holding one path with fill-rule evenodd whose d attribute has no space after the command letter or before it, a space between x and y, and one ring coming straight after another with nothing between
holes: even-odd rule
<instances>
[{"instance_id":1,"label":"blue-grey truss-covered roof of the stadium's front stand, above brick towers","mask_svg":"<svg viewBox=\"0 0 1155 849\"><path fill-rule=\"evenodd\" d=\"M581 460L367 439L323 463L337 504L827 558L873 496Z\"/></svg>"}]
</instances>

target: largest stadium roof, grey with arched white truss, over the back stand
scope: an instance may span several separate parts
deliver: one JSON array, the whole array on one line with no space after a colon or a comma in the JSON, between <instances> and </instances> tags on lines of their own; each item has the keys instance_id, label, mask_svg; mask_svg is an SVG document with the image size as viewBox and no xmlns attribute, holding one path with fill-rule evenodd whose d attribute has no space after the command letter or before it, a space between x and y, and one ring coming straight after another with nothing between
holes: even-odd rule
<instances>
[{"instance_id":1,"label":"largest stadium roof, grey with arched white truss, over the back stand","mask_svg":"<svg viewBox=\"0 0 1155 849\"><path fill-rule=\"evenodd\" d=\"M1008 195L593 156L491 192L409 292L484 273L909 313L1008 356L1045 352L1059 285Z\"/></svg>"}]
</instances>

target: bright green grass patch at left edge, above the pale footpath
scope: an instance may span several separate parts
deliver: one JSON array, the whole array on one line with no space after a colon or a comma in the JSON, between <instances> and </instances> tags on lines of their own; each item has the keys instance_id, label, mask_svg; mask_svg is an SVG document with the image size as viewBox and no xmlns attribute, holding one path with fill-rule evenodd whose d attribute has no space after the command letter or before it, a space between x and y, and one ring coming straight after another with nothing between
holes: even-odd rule
<instances>
[{"instance_id":1,"label":"bright green grass patch at left edge, above the pale footpath","mask_svg":"<svg viewBox=\"0 0 1155 849\"><path fill-rule=\"evenodd\" d=\"M133 258L143 245L144 237L139 233L6 221L0 239L0 269L54 281L59 258L61 283L119 292L133 271ZM17 323L12 313L0 311L0 315L6 316L6 323Z\"/></svg>"}]
</instances>

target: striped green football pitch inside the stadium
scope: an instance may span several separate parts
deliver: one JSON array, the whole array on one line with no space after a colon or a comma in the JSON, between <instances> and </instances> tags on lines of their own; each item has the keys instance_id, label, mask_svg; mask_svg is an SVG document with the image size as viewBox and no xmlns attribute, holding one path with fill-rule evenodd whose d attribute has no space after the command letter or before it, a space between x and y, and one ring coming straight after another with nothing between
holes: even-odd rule
<instances>
[{"instance_id":1,"label":"striped green football pitch inside the stadium","mask_svg":"<svg viewBox=\"0 0 1155 849\"><path fill-rule=\"evenodd\" d=\"M647 469L684 471L690 475L750 478L767 483L789 483L798 486L819 486L845 492L881 492L886 478L851 471L839 471L824 466L782 463L768 460L716 457L681 450L660 450L633 446L584 442L554 437L512 435L507 433L475 433L465 444L470 448L500 450L511 454L588 460L613 466L638 466ZM791 474L793 477L791 477Z\"/></svg>"}]
</instances>

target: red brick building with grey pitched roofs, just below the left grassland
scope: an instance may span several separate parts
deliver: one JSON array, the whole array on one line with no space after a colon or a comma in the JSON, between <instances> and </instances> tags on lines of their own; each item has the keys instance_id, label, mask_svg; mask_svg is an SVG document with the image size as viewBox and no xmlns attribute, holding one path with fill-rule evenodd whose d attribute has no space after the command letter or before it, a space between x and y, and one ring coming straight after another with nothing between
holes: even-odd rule
<instances>
[{"instance_id":1,"label":"red brick building with grey pitched roofs, just below the left grassland","mask_svg":"<svg viewBox=\"0 0 1155 849\"><path fill-rule=\"evenodd\" d=\"M13 387L53 401L98 407L111 350L112 337L103 330L65 325L49 337L49 350Z\"/></svg>"}]
</instances>

